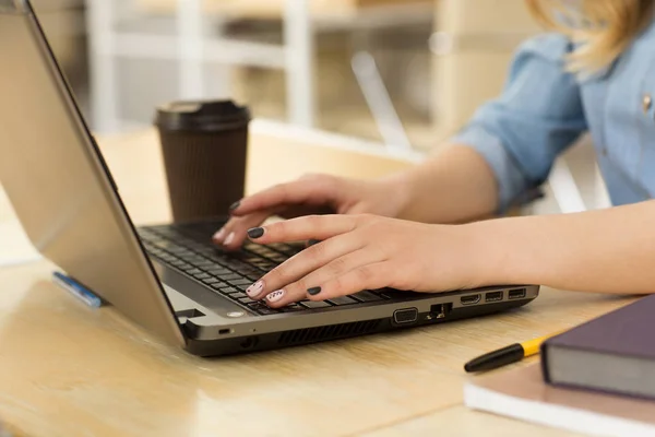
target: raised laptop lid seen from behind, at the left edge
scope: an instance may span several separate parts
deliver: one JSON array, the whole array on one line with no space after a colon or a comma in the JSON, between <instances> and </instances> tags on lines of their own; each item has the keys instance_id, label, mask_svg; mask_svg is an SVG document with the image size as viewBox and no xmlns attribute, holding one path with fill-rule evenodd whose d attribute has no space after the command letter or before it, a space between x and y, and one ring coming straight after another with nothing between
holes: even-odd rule
<instances>
[{"instance_id":1,"label":"raised laptop lid seen from behind, at the left edge","mask_svg":"<svg viewBox=\"0 0 655 437\"><path fill-rule=\"evenodd\" d=\"M46 258L135 322L184 344L27 0L0 0L0 184Z\"/></svg>"}]
</instances>

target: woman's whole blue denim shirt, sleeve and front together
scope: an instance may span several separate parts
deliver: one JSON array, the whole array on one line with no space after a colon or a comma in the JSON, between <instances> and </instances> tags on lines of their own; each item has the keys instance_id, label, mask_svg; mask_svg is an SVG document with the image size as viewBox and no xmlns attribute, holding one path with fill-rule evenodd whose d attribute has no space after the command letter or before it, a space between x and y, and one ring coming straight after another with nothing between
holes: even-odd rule
<instances>
[{"instance_id":1,"label":"woman's whole blue denim shirt, sleeve and front together","mask_svg":"<svg viewBox=\"0 0 655 437\"><path fill-rule=\"evenodd\" d=\"M655 194L655 23L611 66L586 78L565 71L572 49L559 34L524 43L503 93L452 139L490 165L501 211L534 198L557 156L585 131L612 204Z\"/></svg>"}]
</instances>

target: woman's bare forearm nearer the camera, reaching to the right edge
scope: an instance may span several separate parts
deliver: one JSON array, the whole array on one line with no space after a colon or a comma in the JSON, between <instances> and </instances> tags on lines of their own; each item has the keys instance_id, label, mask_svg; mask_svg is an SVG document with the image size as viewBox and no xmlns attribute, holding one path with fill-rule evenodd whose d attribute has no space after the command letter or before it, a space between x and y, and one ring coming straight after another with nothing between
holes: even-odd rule
<instances>
[{"instance_id":1,"label":"woman's bare forearm nearer the camera, reaching to the right edge","mask_svg":"<svg viewBox=\"0 0 655 437\"><path fill-rule=\"evenodd\" d=\"M655 292L655 201L471 225L484 283L599 293Z\"/></svg>"}]
</instances>

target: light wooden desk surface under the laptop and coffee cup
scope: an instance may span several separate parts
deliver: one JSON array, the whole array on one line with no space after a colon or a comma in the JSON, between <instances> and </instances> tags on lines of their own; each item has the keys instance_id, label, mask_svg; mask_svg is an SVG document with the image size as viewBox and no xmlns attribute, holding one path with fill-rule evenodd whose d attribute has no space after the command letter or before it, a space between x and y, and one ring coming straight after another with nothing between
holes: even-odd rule
<instances>
[{"instance_id":1,"label":"light wooden desk surface under the laptop and coffee cup","mask_svg":"<svg viewBox=\"0 0 655 437\"><path fill-rule=\"evenodd\" d=\"M264 134L251 143L251 189L337 164L361 176L406 165ZM155 135L102 144L134 220L166 218ZM364 161L366 174L356 165ZM162 344L111 307L83 306L50 284L51 268L0 269L0 417L31 436L570 435L466 410L462 365L629 302L544 290L499 316L205 359Z\"/></svg>"}]
</instances>

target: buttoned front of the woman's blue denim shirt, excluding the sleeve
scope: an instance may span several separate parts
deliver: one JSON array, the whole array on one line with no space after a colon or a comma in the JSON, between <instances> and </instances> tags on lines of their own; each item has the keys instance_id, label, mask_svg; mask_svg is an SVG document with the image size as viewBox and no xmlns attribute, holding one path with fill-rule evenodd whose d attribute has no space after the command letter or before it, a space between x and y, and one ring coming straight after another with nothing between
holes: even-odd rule
<instances>
[{"instance_id":1,"label":"buttoned front of the woman's blue denim shirt, excluding the sleeve","mask_svg":"<svg viewBox=\"0 0 655 437\"><path fill-rule=\"evenodd\" d=\"M655 24L607 71L580 81L586 121L614 204L655 197Z\"/></svg>"}]
</instances>

